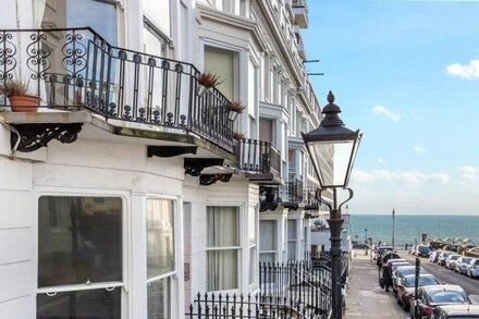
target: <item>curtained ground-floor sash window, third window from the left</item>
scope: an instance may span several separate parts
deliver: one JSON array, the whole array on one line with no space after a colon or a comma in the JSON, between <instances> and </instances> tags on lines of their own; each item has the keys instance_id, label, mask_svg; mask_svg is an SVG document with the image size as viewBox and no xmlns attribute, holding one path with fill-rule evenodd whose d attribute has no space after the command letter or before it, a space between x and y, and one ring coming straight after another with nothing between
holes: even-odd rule
<instances>
[{"instance_id":1,"label":"curtained ground-floor sash window, third window from the left","mask_svg":"<svg viewBox=\"0 0 479 319\"><path fill-rule=\"evenodd\" d=\"M207 207L207 290L240 287L240 208Z\"/></svg>"}]
</instances>

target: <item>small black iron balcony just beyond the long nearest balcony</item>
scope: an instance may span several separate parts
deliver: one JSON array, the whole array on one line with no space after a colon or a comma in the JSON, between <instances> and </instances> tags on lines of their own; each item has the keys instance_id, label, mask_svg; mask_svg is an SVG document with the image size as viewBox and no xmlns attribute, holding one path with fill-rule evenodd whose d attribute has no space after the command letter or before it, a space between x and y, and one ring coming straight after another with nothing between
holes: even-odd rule
<instances>
[{"instance_id":1,"label":"small black iron balcony just beyond the long nearest balcony","mask_svg":"<svg viewBox=\"0 0 479 319\"><path fill-rule=\"evenodd\" d=\"M258 183L279 184L281 180L280 150L270 142L243 138L236 144L240 170Z\"/></svg>"}]
</instances>

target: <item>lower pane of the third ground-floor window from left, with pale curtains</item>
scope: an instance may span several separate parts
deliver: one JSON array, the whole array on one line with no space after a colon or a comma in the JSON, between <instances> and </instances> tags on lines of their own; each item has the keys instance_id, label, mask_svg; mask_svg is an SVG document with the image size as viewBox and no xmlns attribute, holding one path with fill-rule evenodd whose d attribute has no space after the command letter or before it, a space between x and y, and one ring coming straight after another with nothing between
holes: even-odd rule
<instances>
[{"instance_id":1,"label":"lower pane of the third ground-floor window from left, with pale curtains","mask_svg":"<svg viewBox=\"0 0 479 319\"><path fill-rule=\"evenodd\" d=\"M208 291L225 291L238 287L236 249L207 251Z\"/></svg>"}]
</instances>

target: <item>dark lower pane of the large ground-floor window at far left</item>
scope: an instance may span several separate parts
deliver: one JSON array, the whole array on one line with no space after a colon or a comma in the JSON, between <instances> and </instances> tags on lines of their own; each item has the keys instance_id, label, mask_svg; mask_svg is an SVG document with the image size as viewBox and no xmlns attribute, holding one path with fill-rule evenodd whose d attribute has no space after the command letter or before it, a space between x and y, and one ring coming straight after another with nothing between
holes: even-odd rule
<instances>
[{"instance_id":1,"label":"dark lower pane of the large ground-floor window at far left","mask_svg":"<svg viewBox=\"0 0 479 319\"><path fill-rule=\"evenodd\" d=\"M37 295L37 319L121 318L121 289Z\"/></svg>"}]
</instances>

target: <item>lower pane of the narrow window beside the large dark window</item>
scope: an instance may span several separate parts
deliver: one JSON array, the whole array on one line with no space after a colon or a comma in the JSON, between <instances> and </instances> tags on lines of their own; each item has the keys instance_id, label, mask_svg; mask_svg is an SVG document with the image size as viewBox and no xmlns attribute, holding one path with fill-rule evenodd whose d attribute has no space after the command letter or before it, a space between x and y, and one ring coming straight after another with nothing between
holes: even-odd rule
<instances>
[{"instance_id":1,"label":"lower pane of the narrow window beside the large dark window","mask_svg":"<svg viewBox=\"0 0 479 319\"><path fill-rule=\"evenodd\" d=\"M170 278L148 283L148 319L171 318Z\"/></svg>"}]
</instances>

